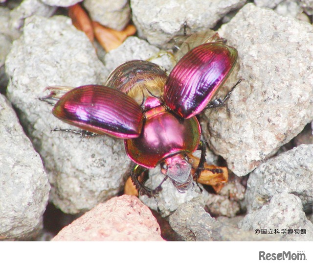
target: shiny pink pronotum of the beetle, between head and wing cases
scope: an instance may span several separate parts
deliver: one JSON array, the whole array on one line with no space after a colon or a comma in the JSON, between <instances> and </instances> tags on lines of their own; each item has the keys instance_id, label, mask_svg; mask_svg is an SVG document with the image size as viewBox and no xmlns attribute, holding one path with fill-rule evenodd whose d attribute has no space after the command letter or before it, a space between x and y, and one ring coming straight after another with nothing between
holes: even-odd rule
<instances>
[{"instance_id":1,"label":"shiny pink pronotum of the beetle, between head and wing cases","mask_svg":"<svg viewBox=\"0 0 313 267\"><path fill-rule=\"evenodd\" d=\"M183 120L157 106L146 112L139 138L125 140L127 155L137 164L155 168L166 157L194 152L201 128L196 117Z\"/></svg>"}]
</instances>

